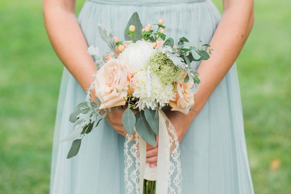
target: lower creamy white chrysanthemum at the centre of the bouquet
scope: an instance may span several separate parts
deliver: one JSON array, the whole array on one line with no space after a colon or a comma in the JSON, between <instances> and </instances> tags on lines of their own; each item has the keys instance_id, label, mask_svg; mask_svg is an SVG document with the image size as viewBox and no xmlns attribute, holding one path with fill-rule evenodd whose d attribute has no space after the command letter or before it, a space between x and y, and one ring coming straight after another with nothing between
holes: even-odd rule
<instances>
[{"instance_id":1,"label":"lower creamy white chrysanthemum at the centre of the bouquet","mask_svg":"<svg viewBox=\"0 0 291 194\"><path fill-rule=\"evenodd\" d=\"M175 92L173 92L172 84L164 85L160 82L159 77L155 73L151 73L151 91L146 92L147 71L142 70L134 74L135 86L133 96L139 98L136 107L143 110L145 107L156 109L157 103L160 107L169 103L169 100L174 100Z\"/></svg>"}]
</instances>

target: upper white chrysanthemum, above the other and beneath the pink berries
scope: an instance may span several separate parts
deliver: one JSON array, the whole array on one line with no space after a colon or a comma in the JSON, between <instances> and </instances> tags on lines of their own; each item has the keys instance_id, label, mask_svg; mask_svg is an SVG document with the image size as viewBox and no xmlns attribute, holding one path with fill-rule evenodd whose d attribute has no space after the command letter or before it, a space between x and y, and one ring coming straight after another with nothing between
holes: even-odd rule
<instances>
[{"instance_id":1,"label":"upper white chrysanthemum, above the other and beneath the pink berries","mask_svg":"<svg viewBox=\"0 0 291 194\"><path fill-rule=\"evenodd\" d=\"M124 61L125 68L134 74L145 69L149 56L155 52L152 44L144 39L135 43L130 43L118 56L118 59Z\"/></svg>"}]
</instances>

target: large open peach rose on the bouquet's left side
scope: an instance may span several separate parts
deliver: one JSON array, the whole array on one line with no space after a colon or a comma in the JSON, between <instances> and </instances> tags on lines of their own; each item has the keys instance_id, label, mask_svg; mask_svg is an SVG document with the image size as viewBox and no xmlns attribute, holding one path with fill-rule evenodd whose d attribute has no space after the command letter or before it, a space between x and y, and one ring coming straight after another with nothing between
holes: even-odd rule
<instances>
[{"instance_id":1,"label":"large open peach rose on the bouquet's left side","mask_svg":"<svg viewBox=\"0 0 291 194\"><path fill-rule=\"evenodd\" d=\"M127 92L117 92L116 89L127 90L130 78L131 75L118 59L109 59L96 73L94 81L95 95L101 101L99 109L125 105Z\"/></svg>"}]
</instances>

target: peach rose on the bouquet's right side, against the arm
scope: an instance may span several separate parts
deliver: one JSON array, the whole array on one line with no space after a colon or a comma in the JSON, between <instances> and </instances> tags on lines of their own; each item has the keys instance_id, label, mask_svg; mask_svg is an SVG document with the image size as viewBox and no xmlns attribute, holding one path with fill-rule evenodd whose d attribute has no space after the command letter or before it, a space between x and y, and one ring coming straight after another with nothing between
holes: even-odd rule
<instances>
[{"instance_id":1,"label":"peach rose on the bouquet's right side, against the arm","mask_svg":"<svg viewBox=\"0 0 291 194\"><path fill-rule=\"evenodd\" d=\"M186 75L187 74L184 73L183 78L185 78ZM175 84L177 87L176 101L170 101L169 105L172 107L171 110L180 111L186 115L194 104L194 94L191 92L191 88L194 84L193 79L190 78L187 83L176 82Z\"/></svg>"}]
</instances>

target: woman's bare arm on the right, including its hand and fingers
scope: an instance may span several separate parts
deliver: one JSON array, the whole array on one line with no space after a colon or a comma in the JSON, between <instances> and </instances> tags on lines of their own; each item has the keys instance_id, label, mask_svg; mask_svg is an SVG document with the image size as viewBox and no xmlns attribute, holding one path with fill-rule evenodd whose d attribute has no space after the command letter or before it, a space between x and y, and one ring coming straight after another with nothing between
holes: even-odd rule
<instances>
[{"instance_id":1,"label":"woman's bare arm on the right, including its hand and fingers","mask_svg":"<svg viewBox=\"0 0 291 194\"><path fill-rule=\"evenodd\" d=\"M165 111L176 129L179 141L242 50L253 27L253 6L253 0L223 0L222 18L209 43L213 49L212 55L207 61L202 61L198 68L202 82L199 92L194 95L195 104L192 106L197 112L190 111L184 115L178 111ZM156 148L147 151L147 162L152 162L150 166L156 165L156 153Z\"/></svg>"}]
</instances>

